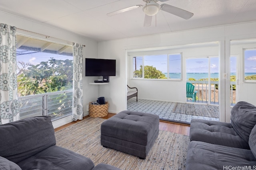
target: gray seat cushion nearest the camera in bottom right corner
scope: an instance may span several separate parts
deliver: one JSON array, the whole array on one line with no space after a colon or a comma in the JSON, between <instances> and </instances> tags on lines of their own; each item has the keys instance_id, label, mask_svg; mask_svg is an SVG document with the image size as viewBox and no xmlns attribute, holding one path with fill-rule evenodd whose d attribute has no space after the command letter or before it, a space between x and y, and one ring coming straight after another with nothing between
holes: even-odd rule
<instances>
[{"instance_id":1,"label":"gray seat cushion nearest the camera in bottom right corner","mask_svg":"<svg viewBox=\"0 0 256 170\"><path fill-rule=\"evenodd\" d=\"M254 168L256 158L251 150L191 141L188 145L186 170L228 170Z\"/></svg>"}]
</instances>

